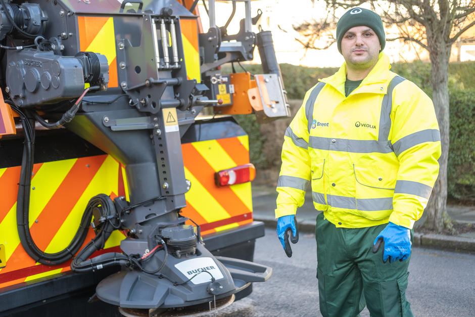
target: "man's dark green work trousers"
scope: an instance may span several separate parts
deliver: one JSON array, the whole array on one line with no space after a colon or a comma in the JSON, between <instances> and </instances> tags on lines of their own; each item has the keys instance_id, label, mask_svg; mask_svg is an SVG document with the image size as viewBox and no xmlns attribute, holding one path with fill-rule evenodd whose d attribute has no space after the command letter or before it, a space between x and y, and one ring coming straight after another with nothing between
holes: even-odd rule
<instances>
[{"instance_id":1,"label":"man's dark green work trousers","mask_svg":"<svg viewBox=\"0 0 475 317\"><path fill-rule=\"evenodd\" d=\"M382 249L371 251L385 227L336 228L323 212L317 216L317 278L323 316L354 317L365 305L371 316L413 316L405 295L411 257L383 263Z\"/></svg>"}]
</instances>

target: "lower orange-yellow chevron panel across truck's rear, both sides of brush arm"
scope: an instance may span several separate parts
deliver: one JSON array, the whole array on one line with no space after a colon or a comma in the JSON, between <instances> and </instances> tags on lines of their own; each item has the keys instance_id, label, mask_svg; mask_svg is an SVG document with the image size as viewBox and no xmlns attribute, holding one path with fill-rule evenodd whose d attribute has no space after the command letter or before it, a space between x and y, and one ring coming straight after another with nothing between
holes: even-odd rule
<instances>
[{"instance_id":1,"label":"lower orange-yellow chevron panel across truck's rear, both sides of brush arm","mask_svg":"<svg viewBox=\"0 0 475 317\"><path fill-rule=\"evenodd\" d=\"M247 135L183 144L182 152L185 176L192 182L183 216L197 222L203 235L253 221L251 183L224 187L214 183L216 171L249 163ZM0 245L6 257L5 267L0 265L0 288L70 269L70 261L57 266L36 263L21 246L16 223L19 178L20 166L0 168ZM129 200L125 169L110 155L34 164L29 225L36 245L48 253L64 249L76 233L87 202L100 193ZM93 237L89 229L84 245ZM122 232L114 231L106 249L94 256L121 252L124 238Z\"/></svg>"}]
</instances>

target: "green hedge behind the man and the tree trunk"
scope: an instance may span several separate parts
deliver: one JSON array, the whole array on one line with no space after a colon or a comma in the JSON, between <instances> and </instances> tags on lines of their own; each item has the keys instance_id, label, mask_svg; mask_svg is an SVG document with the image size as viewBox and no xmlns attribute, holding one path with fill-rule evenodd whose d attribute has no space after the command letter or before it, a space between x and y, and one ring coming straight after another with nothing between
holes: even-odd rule
<instances>
[{"instance_id":1,"label":"green hedge behind the man and the tree trunk","mask_svg":"<svg viewBox=\"0 0 475 317\"><path fill-rule=\"evenodd\" d=\"M251 73L262 73L260 65L244 65ZM242 71L235 65L236 71ZM307 89L318 78L335 73L338 68L310 68L281 64L282 77L289 99L302 99ZM422 62L395 63L392 71L413 81L429 96L432 96L431 65ZM224 68L223 72L230 72ZM450 90L450 152L448 159L448 194L459 200L475 201L475 63L461 62L449 64ZM298 107L298 106L294 106ZM293 109L295 113L296 109ZM250 117L252 119L250 119ZM275 131L281 126L259 127L254 116L237 116L250 138L251 162L258 168L275 168L279 165L278 151L265 151L269 144L279 143ZM278 134L278 133L276 133ZM280 139L280 138L279 138ZM273 145L275 148L276 146Z\"/></svg>"}]
</instances>

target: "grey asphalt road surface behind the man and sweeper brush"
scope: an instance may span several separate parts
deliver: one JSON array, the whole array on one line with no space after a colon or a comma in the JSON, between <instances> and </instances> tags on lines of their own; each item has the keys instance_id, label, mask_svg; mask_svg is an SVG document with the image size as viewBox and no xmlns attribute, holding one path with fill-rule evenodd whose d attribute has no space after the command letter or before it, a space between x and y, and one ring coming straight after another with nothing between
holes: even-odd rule
<instances>
[{"instance_id":1,"label":"grey asphalt road surface behind the man and sweeper brush","mask_svg":"<svg viewBox=\"0 0 475 317\"><path fill-rule=\"evenodd\" d=\"M254 261L273 268L253 293L218 316L320 316L313 234L300 235L294 255L283 252L275 231L256 241ZM475 316L475 255L413 248L406 296L414 316ZM365 308L361 316L369 316Z\"/></svg>"}]
</instances>

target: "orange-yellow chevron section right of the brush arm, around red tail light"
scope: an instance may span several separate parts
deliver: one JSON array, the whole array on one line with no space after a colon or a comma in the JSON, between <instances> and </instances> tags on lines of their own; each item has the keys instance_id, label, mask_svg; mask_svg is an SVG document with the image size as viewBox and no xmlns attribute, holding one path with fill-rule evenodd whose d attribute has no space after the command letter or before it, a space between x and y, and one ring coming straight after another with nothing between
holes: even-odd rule
<instances>
[{"instance_id":1,"label":"orange-yellow chevron section right of the brush arm, around red tail light","mask_svg":"<svg viewBox=\"0 0 475 317\"><path fill-rule=\"evenodd\" d=\"M251 183L220 187L214 180L221 169L249 163L248 136L186 143L181 149L185 177L192 182L181 214L198 223L203 235L252 222Z\"/></svg>"}]
</instances>

